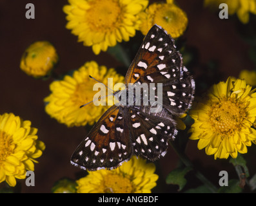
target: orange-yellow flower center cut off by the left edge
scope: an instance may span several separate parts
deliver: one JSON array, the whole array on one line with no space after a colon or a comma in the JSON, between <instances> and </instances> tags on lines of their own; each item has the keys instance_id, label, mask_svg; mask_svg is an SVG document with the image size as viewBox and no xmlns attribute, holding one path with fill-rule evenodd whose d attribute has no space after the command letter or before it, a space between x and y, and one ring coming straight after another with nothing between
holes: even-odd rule
<instances>
[{"instance_id":1,"label":"orange-yellow flower center cut off by the left edge","mask_svg":"<svg viewBox=\"0 0 256 206\"><path fill-rule=\"evenodd\" d=\"M12 136L0 130L0 164L6 157L14 152L15 145L12 144Z\"/></svg>"}]
</instances>

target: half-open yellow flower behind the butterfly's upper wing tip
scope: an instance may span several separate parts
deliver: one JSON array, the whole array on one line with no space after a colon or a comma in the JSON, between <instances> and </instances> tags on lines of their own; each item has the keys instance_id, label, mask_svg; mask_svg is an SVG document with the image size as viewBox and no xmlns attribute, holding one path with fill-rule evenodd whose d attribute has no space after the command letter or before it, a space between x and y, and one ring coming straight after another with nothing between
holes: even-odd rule
<instances>
[{"instance_id":1,"label":"half-open yellow flower behind the butterfly's upper wing tip","mask_svg":"<svg viewBox=\"0 0 256 206\"><path fill-rule=\"evenodd\" d=\"M167 0L166 3L153 3L145 12L139 14L139 17L143 35L148 33L153 24L158 24L173 38L177 38L184 33L188 25L186 13L176 6L173 0Z\"/></svg>"}]
</instances>

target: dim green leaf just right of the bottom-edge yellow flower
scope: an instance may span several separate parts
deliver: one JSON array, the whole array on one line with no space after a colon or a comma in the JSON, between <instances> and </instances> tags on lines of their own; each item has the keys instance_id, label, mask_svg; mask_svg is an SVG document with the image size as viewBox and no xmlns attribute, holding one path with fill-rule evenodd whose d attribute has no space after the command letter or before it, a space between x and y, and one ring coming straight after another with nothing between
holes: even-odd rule
<instances>
[{"instance_id":1,"label":"dim green leaf just right of the bottom-edge yellow flower","mask_svg":"<svg viewBox=\"0 0 256 206\"><path fill-rule=\"evenodd\" d=\"M191 170L191 167L174 169L166 177L166 183L172 185L179 185L179 191L181 191L186 185L186 179L184 178L184 176Z\"/></svg>"}]
</instances>

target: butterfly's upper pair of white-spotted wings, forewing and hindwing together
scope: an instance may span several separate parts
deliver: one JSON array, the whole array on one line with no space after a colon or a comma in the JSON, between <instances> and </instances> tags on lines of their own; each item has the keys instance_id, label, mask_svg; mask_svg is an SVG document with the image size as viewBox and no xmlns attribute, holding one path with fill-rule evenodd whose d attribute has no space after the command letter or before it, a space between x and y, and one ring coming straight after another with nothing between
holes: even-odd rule
<instances>
[{"instance_id":1,"label":"butterfly's upper pair of white-spotted wings, forewing and hindwing together","mask_svg":"<svg viewBox=\"0 0 256 206\"><path fill-rule=\"evenodd\" d=\"M182 66L182 57L174 41L166 31L156 24L144 38L125 77L129 83L162 83L162 106L173 115L188 109L193 100L195 83Z\"/></svg>"}]
</instances>

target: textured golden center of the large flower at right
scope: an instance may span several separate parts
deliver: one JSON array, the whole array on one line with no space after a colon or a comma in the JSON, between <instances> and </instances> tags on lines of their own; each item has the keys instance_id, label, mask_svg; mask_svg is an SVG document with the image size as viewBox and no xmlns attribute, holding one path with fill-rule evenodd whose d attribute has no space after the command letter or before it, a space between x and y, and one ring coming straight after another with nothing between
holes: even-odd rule
<instances>
[{"instance_id":1,"label":"textured golden center of the large flower at right","mask_svg":"<svg viewBox=\"0 0 256 206\"><path fill-rule=\"evenodd\" d=\"M246 118L246 106L232 98L223 98L212 104L209 112L210 122L222 136L230 136L240 131L242 121Z\"/></svg>"}]
</instances>

